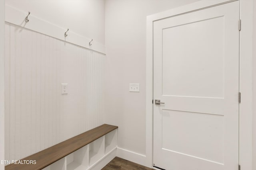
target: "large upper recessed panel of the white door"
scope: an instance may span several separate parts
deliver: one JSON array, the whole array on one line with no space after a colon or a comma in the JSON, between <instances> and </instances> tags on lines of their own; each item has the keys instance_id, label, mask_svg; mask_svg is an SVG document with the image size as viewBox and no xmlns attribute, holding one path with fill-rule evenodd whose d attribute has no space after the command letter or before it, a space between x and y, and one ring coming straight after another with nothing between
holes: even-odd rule
<instances>
[{"instance_id":1,"label":"large upper recessed panel of the white door","mask_svg":"<svg viewBox=\"0 0 256 170\"><path fill-rule=\"evenodd\" d=\"M162 30L163 95L223 98L223 20L221 16Z\"/></svg>"}]
</instances>

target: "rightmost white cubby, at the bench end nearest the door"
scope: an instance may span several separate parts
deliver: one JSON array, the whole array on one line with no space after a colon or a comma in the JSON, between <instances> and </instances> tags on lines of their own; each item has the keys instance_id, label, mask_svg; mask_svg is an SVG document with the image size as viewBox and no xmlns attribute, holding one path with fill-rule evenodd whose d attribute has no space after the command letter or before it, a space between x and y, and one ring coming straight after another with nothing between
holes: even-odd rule
<instances>
[{"instance_id":1,"label":"rightmost white cubby, at the bench end nearest the door","mask_svg":"<svg viewBox=\"0 0 256 170\"><path fill-rule=\"evenodd\" d=\"M116 147L116 129L105 135L105 154Z\"/></svg>"}]
</instances>

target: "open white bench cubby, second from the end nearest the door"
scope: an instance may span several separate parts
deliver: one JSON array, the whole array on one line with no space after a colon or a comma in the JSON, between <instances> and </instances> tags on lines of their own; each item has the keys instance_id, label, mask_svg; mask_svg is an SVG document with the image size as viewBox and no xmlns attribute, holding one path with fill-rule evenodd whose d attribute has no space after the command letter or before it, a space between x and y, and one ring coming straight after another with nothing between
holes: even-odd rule
<instances>
[{"instance_id":1,"label":"open white bench cubby, second from the end nearest the door","mask_svg":"<svg viewBox=\"0 0 256 170\"><path fill-rule=\"evenodd\" d=\"M96 139L88 145L89 149L89 166L95 164L104 156L104 136Z\"/></svg>"}]
</instances>

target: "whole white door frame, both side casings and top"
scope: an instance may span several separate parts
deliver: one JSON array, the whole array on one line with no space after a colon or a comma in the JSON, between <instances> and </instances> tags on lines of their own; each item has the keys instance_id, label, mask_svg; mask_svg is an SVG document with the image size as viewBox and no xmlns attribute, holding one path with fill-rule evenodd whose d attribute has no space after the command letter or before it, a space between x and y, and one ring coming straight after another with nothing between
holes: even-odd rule
<instances>
[{"instance_id":1,"label":"whole white door frame, both side casings and top","mask_svg":"<svg viewBox=\"0 0 256 170\"><path fill-rule=\"evenodd\" d=\"M186 6L147 17L146 53L146 162L153 165L153 22L168 17L202 10L236 0L202 0ZM241 170L252 170L252 4L253 0L240 1L240 68L239 91L239 164Z\"/></svg>"}]
</instances>

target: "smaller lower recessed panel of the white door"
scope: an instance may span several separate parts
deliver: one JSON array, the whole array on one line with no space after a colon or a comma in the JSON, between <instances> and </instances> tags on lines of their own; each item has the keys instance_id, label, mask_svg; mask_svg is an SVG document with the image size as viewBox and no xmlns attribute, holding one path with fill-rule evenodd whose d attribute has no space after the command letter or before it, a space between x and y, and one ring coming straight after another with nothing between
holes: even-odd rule
<instances>
[{"instance_id":1,"label":"smaller lower recessed panel of the white door","mask_svg":"<svg viewBox=\"0 0 256 170\"><path fill-rule=\"evenodd\" d=\"M223 164L222 115L163 110L162 129L162 149Z\"/></svg>"}]
</instances>

